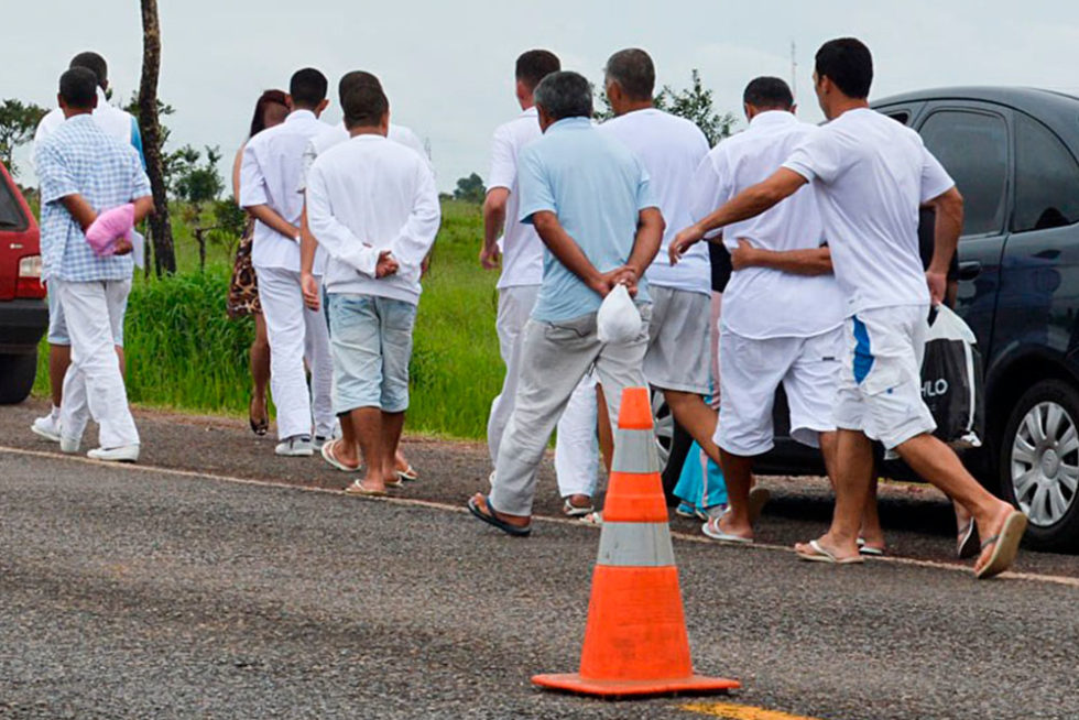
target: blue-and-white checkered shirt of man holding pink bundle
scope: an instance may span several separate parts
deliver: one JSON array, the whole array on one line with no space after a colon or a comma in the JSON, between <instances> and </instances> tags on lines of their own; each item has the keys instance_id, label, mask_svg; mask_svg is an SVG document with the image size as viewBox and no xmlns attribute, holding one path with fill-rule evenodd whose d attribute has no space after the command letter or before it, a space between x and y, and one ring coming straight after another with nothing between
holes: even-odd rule
<instances>
[{"instance_id":1,"label":"blue-and-white checkered shirt of man holding pink bundle","mask_svg":"<svg viewBox=\"0 0 1079 720\"><path fill-rule=\"evenodd\" d=\"M132 254L99 258L61 198L81 195L100 212L150 195L139 153L106 134L90 114L65 120L37 144L41 182L42 275L68 282L128 280Z\"/></svg>"}]
</instances>

